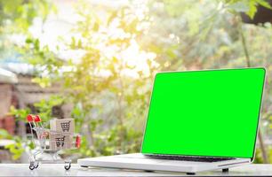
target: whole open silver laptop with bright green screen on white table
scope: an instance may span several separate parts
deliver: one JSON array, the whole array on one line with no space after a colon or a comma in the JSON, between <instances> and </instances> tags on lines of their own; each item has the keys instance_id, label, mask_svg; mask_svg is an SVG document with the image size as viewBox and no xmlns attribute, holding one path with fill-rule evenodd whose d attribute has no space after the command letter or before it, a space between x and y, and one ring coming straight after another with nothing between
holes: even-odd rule
<instances>
[{"instance_id":1,"label":"whole open silver laptop with bright green screen on white table","mask_svg":"<svg viewBox=\"0 0 272 177\"><path fill-rule=\"evenodd\" d=\"M265 68L156 73L140 153L83 167L194 174L252 163Z\"/></svg>"}]
</instances>

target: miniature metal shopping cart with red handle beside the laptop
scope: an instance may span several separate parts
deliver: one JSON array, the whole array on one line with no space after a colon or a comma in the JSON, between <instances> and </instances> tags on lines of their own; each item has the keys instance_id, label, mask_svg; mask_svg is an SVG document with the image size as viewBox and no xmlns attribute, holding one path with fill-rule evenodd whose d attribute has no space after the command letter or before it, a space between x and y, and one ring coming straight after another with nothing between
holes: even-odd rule
<instances>
[{"instance_id":1,"label":"miniature metal shopping cart with red handle beside the laptop","mask_svg":"<svg viewBox=\"0 0 272 177\"><path fill-rule=\"evenodd\" d=\"M70 159L58 158L60 150L71 150L80 147L81 137L78 134L68 133L69 124L61 124L63 132L52 131L44 128L42 119L38 115L29 114L27 117L31 131L31 141L35 145L35 150L29 156L29 169L34 170L39 163L64 163L66 170L71 167ZM39 160L36 158L38 154L47 153L52 156L52 160Z\"/></svg>"}]
</instances>

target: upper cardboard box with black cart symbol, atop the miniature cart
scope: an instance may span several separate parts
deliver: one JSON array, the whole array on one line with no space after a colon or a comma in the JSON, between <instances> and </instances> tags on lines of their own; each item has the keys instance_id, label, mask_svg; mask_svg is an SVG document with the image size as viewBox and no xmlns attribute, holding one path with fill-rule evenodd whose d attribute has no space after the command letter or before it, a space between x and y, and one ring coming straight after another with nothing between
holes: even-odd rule
<instances>
[{"instance_id":1,"label":"upper cardboard box with black cart symbol, atop the miniature cart","mask_svg":"<svg viewBox=\"0 0 272 177\"><path fill-rule=\"evenodd\" d=\"M50 129L52 131L74 134L75 121L74 119L52 119L50 120Z\"/></svg>"}]
</instances>

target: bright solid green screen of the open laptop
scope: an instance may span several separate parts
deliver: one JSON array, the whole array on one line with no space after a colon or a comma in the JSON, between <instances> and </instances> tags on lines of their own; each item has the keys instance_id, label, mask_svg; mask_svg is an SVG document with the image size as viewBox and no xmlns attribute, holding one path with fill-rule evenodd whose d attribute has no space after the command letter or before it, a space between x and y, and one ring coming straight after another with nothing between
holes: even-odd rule
<instances>
[{"instance_id":1,"label":"bright solid green screen of the open laptop","mask_svg":"<svg viewBox=\"0 0 272 177\"><path fill-rule=\"evenodd\" d=\"M264 68L157 73L141 152L252 158Z\"/></svg>"}]
</instances>

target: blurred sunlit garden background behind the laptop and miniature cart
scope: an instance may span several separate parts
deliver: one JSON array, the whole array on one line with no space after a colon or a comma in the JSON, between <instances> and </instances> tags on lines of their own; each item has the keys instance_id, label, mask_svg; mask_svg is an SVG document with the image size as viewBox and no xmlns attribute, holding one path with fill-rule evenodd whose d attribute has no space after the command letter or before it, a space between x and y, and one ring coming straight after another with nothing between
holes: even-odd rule
<instances>
[{"instance_id":1,"label":"blurred sunlit garden background behind the laptop and miniature cart","mask_svg":"<svg viewBox=\"0 0 272 177\"><path fill-rule=\"evenodd\" d=\"M140 151L159 71L267 68L254 163L272 163L271 0L0 0L0 162L28 163L28 113L73 118L79 150ZM45 156L45 155L44 155Z\"/></svg>"}]
</instances>

